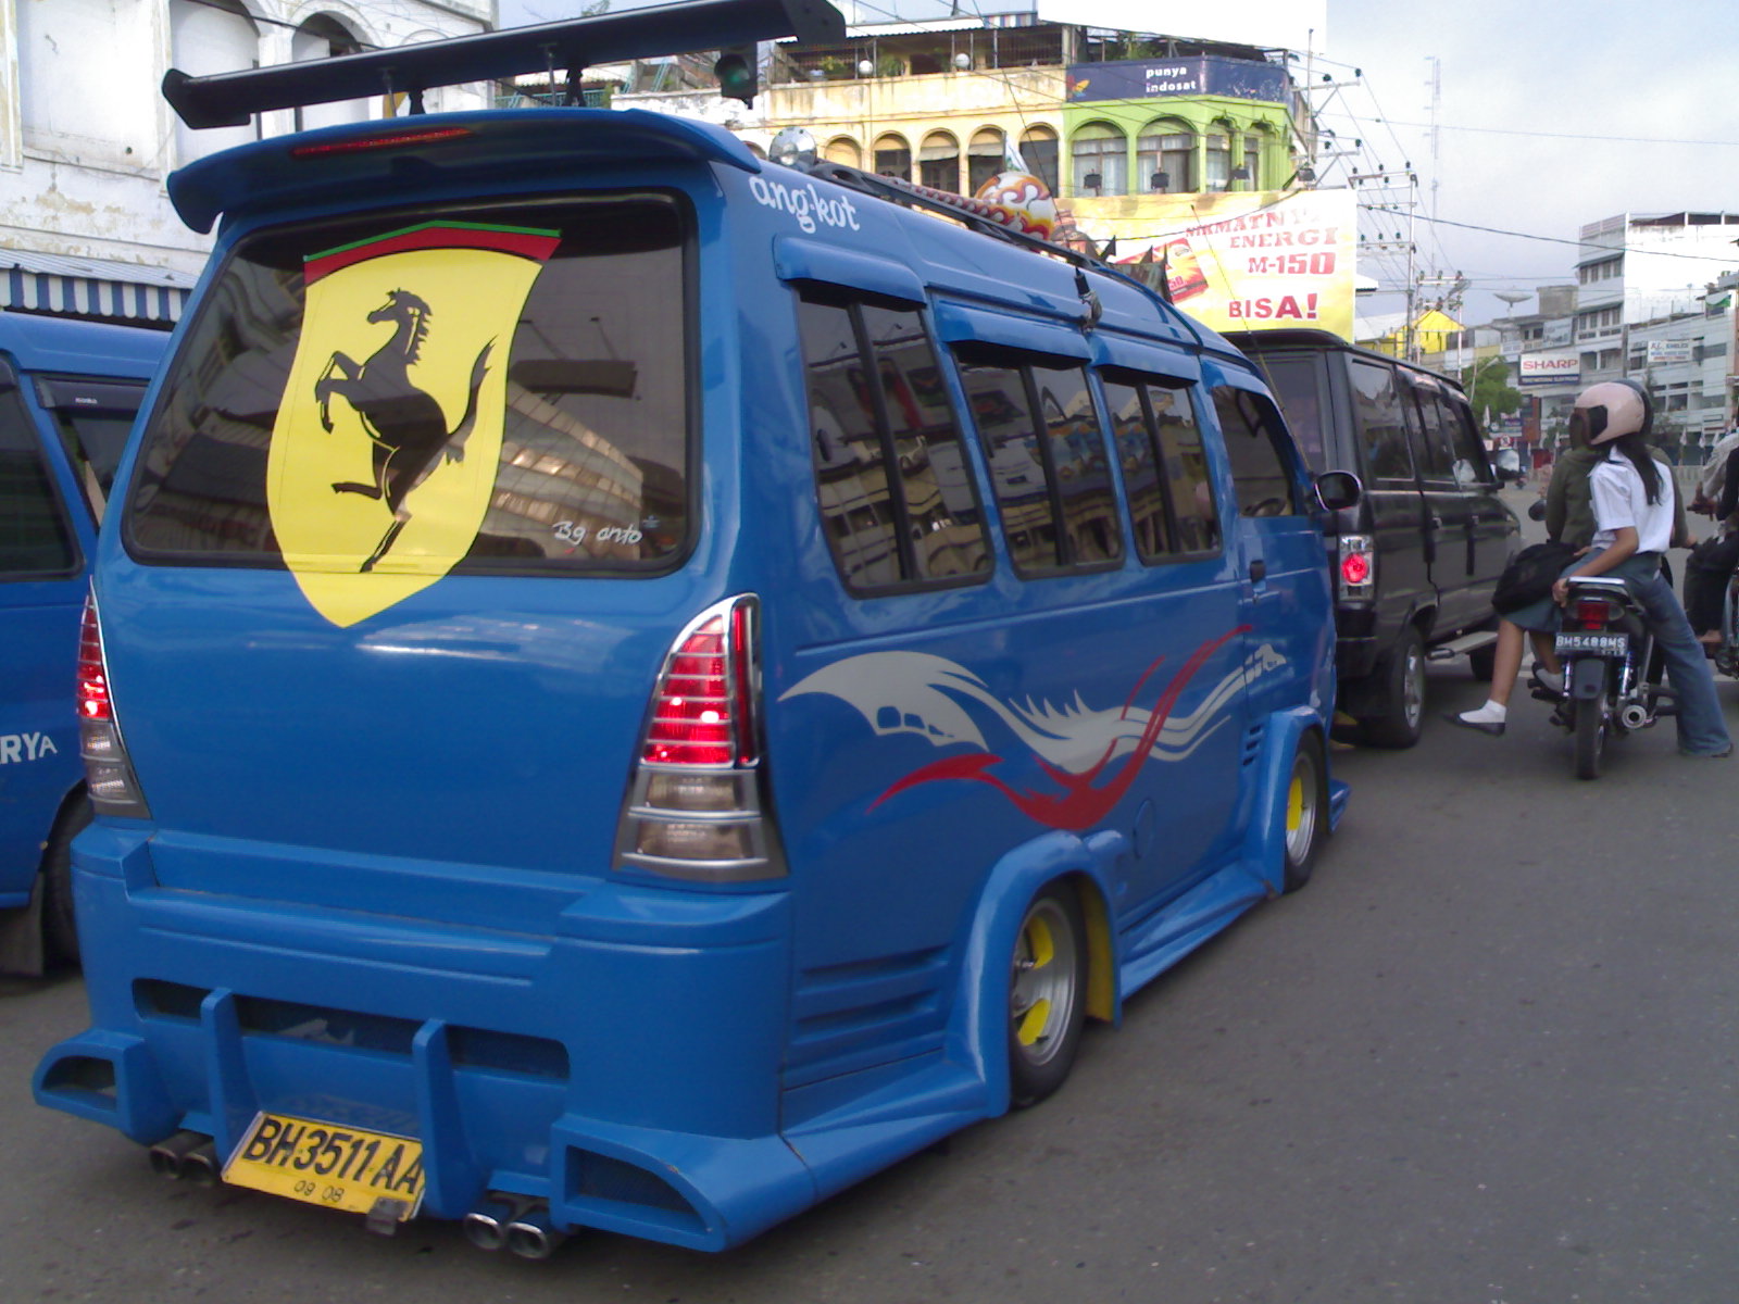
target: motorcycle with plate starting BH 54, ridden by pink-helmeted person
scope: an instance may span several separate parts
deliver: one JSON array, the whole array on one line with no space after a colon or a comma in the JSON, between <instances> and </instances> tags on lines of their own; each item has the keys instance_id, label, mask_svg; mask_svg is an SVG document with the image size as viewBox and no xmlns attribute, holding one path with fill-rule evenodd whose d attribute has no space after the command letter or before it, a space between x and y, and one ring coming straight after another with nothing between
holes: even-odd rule
<instances>
[{"instance_id":1,"label":"motorcycle with plate starting BH 54, ridden by pink-helmeted person","mask_svg":"<svg viewBox=\"0 0 1739 1304\"><path fill-rule=\"evenodd\" d=\"M1729 609L1732 602L1729 595ZM1563 666L1563 689L1555 692L1534 680L1532 694L1553 702L1553 723L1570 732L1576 777L1598 779L1609 737L1635 734L1673 715L1673 690L1650 682L1647 673L1654 633L1622 579L1577 575L1570 579L1553 645Z\"/></svg>"}]
</instances>

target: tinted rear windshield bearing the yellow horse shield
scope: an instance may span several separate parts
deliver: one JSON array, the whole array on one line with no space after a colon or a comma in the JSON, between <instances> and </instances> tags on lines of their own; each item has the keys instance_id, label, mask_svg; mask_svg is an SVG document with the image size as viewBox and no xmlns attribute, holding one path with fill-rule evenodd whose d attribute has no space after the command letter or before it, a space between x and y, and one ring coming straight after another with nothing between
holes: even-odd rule
<instances>
[{"instance_id":1,"label":"tinted rear windshield bearing the yellow horse shield","mask_svg":"<svg viewBox=\"0 0 1739 1304\"><path fill-rule=\"evenodd\" d=\"M242 243L127 502L141 560L652 572L689 544L689 221L668 195Z\"/></svg>"}]
</instances>

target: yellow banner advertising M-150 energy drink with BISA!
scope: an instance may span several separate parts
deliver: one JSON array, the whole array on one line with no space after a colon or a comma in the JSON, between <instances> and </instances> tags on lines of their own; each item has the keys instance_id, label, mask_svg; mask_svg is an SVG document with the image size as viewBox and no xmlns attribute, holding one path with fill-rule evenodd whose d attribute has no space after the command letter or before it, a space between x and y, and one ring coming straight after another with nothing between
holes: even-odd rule
<instances>
[{"instance_id":1,"label":"yellow banner advertising M-150 energy drink with BISA!","mask_svg":"<svg viewBox=\"0 0 1739 1304\"><path fill-rule=\"evenodd\" d=\"M1172 303L1203 325L1353 337L1353 191L1143 196L1141 212L1153 235L1118 236L1115 261L1149 283L1163 275Z\"/></svg>"}]
</instances>

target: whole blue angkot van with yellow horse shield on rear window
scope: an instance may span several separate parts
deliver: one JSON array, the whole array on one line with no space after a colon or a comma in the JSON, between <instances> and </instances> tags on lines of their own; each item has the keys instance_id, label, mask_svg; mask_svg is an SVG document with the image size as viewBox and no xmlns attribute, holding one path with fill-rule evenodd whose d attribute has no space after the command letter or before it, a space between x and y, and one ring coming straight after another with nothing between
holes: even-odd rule
<instances>
[{"instance_id":1,"label":"whole blue angkot van with yellow horse shield on rear window","mask_svg":"<svg viewBox=\"0 0 1739 1304\"><path fill-rule=\"evenodd\" d=\"M508 63L169 89L424 56ZM381 1231L720 1250L1304 883L1356 482L1146 287L784 156L544 108L170 177L221 226L99 546L38 1101Z\"/></svg>"}]
</instances>

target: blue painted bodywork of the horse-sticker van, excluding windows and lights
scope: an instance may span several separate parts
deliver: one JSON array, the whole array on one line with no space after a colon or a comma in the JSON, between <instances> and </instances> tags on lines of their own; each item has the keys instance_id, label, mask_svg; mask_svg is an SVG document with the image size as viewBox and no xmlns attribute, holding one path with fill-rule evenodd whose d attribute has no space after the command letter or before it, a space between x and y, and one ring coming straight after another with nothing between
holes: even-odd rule
<instances>
[{"instance_id":1,"label":"blue painted bodywork of the horse-sticker van, excluding windows and lights","mask_svg":"<svg viewBox=\"0 0 1739 1304\"><path fill-rule=\"evenodd\" d=\"M1261 383L1132 282L1094 273L1083 332L1073 266L699 123L430 115L417 130L475 136L398 170L289 155L398 127L242 146L170 190L193 226L226 214L214 268L393 177L417 209L680 195L701 525L661 574L450 574L343 628L289 570L169 565L104 529L96 596L151 819L75 847L92 1029L49 1052L37 1099L144 1144L203 1132L219 1156L263 1109L414 1135L433 1215L504 1191L558 1226L718 1250L1009 1109L1009 958L1047 885L1103 932L1113 1022L1280 890L1292 756L1334 706L1318 523L1240 516L1210 440L1212 555L1143 563L1123 520L1120 562L1019 579L988 501L984 574L847 596L791 436L802 287L909 303L943 339ZM991 485L981 442L960 449ZM743 593L783 873L654 878L616 854L649 701L690 617ZM1101 741L1092 781L1056 763Z\"/></svg>"}]
</instances>

